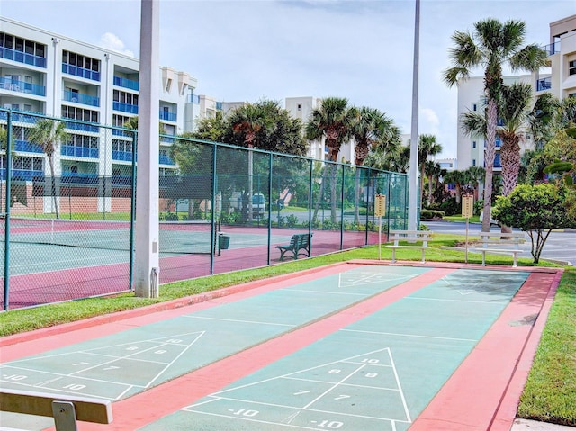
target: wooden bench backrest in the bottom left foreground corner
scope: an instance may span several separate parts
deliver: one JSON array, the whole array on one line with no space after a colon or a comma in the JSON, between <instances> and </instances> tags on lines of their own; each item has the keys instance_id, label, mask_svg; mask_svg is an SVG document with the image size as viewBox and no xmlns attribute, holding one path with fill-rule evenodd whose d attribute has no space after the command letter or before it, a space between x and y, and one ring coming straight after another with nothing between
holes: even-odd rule
<instances>
[{"instance_id":1,"label":"wooden bench backrest in the bottom left foreground corner","mask_svg":"<svg viewBox=\"0 0 576 431\"><path fill-rule=\"evenodd\" d=\"M112 402L43 392L0 389L0 411L54 418L57 431L76 431L76 420L112 423Z\"/></svg>"}]
</instances>

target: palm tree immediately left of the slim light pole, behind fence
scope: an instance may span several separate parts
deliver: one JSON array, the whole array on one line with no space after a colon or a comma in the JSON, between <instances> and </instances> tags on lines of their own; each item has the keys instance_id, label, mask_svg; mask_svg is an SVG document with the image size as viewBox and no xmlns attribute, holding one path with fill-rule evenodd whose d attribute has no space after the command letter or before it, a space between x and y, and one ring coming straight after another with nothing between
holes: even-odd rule
<instances>
[{"instance_id":1,"label":"palm tree immediately left of the slim light pole, behind fence","mask_svg":"<svg viewBox=\"0 0 576 431\"><path fill-rule=\"evenodd\" d=\"M356 141L355 165L363 166L371 148L378 147L390 151L400 144L400 129L394 121L377 109L362 107L358 112L358 121L352 129L352 138ZM356 169L355 213L356 223L360 220L360 169Z\"/></svg>"}]
</instances>

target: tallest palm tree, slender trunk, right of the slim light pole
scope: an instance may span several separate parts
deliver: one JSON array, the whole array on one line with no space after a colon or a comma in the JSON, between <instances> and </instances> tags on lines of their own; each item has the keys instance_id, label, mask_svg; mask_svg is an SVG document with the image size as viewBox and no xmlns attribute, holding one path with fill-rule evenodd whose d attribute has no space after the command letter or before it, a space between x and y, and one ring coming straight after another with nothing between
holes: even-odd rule
<instances>
[{"instance_id":1,"label":"tallest palm tree, slender trunk, right of the slim light pole","mask_svg":"<svg viewBox=\"0 0 576 431\"><path fill-rule=\"evenodd\" d=\"M486 177L484 180L484 213L491 212L492 176L496 153L498 101L502 86L502 67L511 70L536 71L545 66L546 53L536 44L524 46L526 24L509 20L500 22L489 18L474 24L474 32L456 31L452 36L455 48L450 49L452 67L444 72L444 80L453 86L466 79L476 67L484 69L484 93L487 98ZM482 221L482 231L490 231L490 218Z\"/></svg>"}]
</instances>

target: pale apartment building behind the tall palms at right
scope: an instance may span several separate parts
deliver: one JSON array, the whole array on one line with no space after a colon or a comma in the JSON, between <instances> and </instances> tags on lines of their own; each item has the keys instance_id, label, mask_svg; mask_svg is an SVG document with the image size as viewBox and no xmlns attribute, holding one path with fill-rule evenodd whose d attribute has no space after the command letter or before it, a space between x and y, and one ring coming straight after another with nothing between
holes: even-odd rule
<instances>
[{"instance_id":1,"label":"pale apartment building behind the tall palms at right","mask_svg":"<svg viewBox=\"0 0 576 431\"><path fill-rule=\"evenodd\" d=\"M505 76L504 83L514 82L532 85L534 102L544 93L552 93L559 100L576 96L576 15L550 23L550 44L545 46L548 52L549 67L522 76ZM458 83L458 130L457 161L458 168L465 170L470 166L485 166L483 136L468 136L460 126L460 118L465 112L476 112L484 109L485 95L483 76L471 77ZM534 141L529 133L521 143L521 150L534 148ZM496 140L496 158L494 172L501 171L500 139Z\"/></svg>"}]
</instances>

